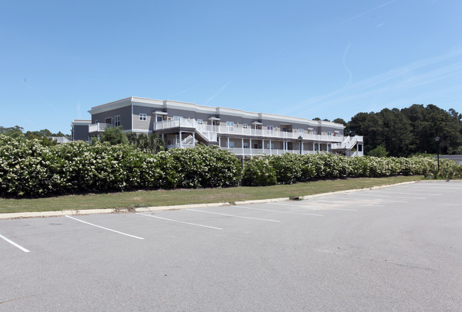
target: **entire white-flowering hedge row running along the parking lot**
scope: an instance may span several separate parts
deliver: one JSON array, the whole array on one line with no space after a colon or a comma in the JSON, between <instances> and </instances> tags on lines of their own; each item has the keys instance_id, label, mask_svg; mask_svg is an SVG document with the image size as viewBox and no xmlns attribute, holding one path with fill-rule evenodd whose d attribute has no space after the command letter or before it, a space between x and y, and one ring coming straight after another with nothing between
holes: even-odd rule
<instances>
[{"instance_id":1,"label":"entire white-flowering hedge row running along the parking lot","mask_svg":"<svg viewBox=\"0 0 462 312\"><path fill-rule=\"evenodd\" d=\"M227 150L198 145L149 154L129 145L84 142L46 146L0 135L0 196L31 197L133 189L263 186L338 177L436 176L429 157L259 156L246 162ZM441 160L440 176L461 166Z\"/></svg>"}]
</instances>

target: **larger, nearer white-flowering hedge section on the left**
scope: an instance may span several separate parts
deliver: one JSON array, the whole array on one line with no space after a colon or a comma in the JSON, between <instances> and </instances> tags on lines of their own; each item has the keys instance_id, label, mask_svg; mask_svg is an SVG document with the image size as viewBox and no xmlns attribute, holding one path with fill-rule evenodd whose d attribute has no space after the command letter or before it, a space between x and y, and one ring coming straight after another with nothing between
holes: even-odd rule
<instances>
[{"instance_id":1,"label":"larger, nearer white-flowering hedge section on the left","mask_svg":"<svg viewBox=\"0 0 462 312\"><path fill-rule=\"evenodd\" d=\"M83 142L44 146L0 135L0 196L237 186L240 161L217 147L159 152Z\"/></svg>"}]
</instances>

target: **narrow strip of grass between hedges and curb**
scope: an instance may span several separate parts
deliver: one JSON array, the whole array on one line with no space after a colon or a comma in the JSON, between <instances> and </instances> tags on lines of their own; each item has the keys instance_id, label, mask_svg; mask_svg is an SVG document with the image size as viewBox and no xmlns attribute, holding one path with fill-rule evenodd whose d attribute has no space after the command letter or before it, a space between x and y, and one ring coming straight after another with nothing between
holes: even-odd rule
<instances>
[{"instance_id":1,"label":"narrow strip of grass between hedges and curb","mask_svg":"<svg viewBox=\"0 0 462 312\"><path fill-rule=\"evenodd\" d=\"M240 186L228 189L173 189L65 195L39 199L0 199L0 213L172 206L304 196L345 189L417 181L422 176L321 180L274 186Z\"/></svg>"}]
</instances>

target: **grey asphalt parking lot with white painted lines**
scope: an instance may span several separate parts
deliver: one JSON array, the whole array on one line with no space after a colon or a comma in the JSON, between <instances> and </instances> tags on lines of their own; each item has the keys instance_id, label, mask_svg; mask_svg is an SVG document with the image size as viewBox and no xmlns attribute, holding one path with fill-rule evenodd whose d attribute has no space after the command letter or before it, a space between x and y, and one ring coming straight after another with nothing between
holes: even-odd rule
<instances>
[{"instance_id":1,"label":"grey asphalt parking lot with white painted lines","mask_svg":"<svg viewBox=\"0 0 462 312\"><path fill-rule=\"evenodd\" d=\"M462 311L462 182L0 221L0 311Z\"/></svg>"}]
</instances>

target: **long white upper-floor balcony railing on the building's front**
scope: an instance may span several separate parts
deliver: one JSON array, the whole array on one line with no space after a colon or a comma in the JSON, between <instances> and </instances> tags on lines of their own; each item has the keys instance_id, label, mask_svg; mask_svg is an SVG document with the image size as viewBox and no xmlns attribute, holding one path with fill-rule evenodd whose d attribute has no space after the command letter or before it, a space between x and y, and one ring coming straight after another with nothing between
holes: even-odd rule
<instances>
[{"instance_id":1,"label":"long white upper-floor balcony railing on the building's front","mask_svg":"<svg viewBox=\"0 0 462 312\"><path fill-rule=\"evenodd\" d=\"M343 141L343 136L333 135L316 135L311 133L299 133L299 132L286 132L276 130L262 130L262 129L250 129L250 128L237 128L229 126L211 126L198 124L195 119L171 119L169 121L159 121L154 123L154 130L171 129L171 128L195 128L205 138L209 138L210 135L214 135L216 142L217 134L235 134L249 137L261 137L261 138L277 138L277 139L293 139L297 140L299 136L303 140L319 141L319 142L337 142Z\"/></svg>"}]
</instances>

